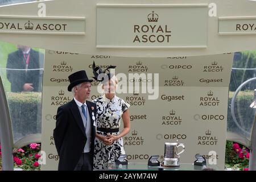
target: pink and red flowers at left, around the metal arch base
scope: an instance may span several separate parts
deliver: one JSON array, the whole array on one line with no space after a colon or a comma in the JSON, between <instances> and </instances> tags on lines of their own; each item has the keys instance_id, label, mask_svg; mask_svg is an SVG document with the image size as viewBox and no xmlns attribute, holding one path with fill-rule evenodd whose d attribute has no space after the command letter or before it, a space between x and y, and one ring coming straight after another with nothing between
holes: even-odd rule
<instances>
[{"instance_id":1,"label":"pink and red flowers at left, around the metal arch base","mask_svg":"<svg viewBox=\"0 0 256 182\"><path fill-rule=\"evenodd\" d=\"M19 148L14 151L13 161L14 168L22 168L24 171L39 171L40 164L38 159L41 155L39 152L41 150L39 143L31 143L27 146ZM1 153L1 143L0 143L0 171L2 169L2 153Z\"/></svg>"}]
</instances>

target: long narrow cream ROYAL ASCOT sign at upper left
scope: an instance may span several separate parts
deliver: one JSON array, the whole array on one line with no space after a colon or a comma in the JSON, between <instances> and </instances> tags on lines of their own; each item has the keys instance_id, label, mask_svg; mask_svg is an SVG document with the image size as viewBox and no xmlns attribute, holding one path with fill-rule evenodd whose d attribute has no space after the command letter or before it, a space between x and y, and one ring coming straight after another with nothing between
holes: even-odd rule
<instances>
[{"instance_id":1,"label":"long narrow cream ROYAL ASCOT sign at upper left","mask_svg":"<svg viewBox=\"0 0 256 182\"><path fill-rule=\"evenodd\" d=\"M85 18L0 16L0 33L85 34Z\"/></svg>"}]
</instances>

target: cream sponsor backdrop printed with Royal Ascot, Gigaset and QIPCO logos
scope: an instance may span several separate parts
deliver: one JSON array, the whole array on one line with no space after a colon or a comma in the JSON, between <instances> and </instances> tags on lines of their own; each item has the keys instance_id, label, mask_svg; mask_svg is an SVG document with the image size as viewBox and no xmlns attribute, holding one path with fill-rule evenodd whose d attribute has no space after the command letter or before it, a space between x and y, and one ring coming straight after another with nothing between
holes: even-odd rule
<instances>
[{"instance_id":1,"label":"cream sponsor backdrop printed with Royal Ascot, Gigaset and QIPCO logos","mask_svg":"<svg viewBox=\"0 0 256 182\"><path fill-rule=\"evenodd\" d=\"M73 99L72 92L67 90L68 75L84 69L92 77L93 61L102 69L117 65L115 74L126 79L127 85L140 85L137 90L123 89L123 93L117 94L131 105L131 131L123 137L130 162L147 162L151 155L159 155L162 160L164 142L179 142L185 145L181 163L193 163L195 155L201 154L210 159L209 163L217 162L224 169L233 53L132 58L48 50L44 65L47 74L43 78L42 150L46 152L43 170L57 169L59 158L53 129L57 107ZM134 73L146 76L133 78ZM99 96L97 82L92 82L91 100Z\"/></svg>"}]
</instances>

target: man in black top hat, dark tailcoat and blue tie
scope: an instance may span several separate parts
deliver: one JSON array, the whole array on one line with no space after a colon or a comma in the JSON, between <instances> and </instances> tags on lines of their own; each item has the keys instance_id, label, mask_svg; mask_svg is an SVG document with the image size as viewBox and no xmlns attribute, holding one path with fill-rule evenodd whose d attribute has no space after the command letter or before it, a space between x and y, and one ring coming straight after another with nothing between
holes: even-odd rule
<instances>
[{"instance_id":1,"label":"man in black top hat, dark tailcoat and blue tie","mask_svg":"<svg viewBox=\"0 0 256 182\"><path fill-rule=\"evenodd\" d=\"M85 71L75 72L68 78L68 91L73 92L74 99L58 108L53 131L60 159L58 169L90 171L96 135L96 104L86 100L93 80L88 79Z\"/></svg>"}]
</instances>

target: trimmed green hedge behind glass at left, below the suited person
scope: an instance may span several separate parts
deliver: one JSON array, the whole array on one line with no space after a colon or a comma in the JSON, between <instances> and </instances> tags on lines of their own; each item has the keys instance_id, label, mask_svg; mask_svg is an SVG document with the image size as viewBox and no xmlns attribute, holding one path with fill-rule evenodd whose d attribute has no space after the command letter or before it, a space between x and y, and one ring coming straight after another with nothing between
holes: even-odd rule
<instances>
[{"instance_id":1,"label":"trimmed green hedge behind glass at left, below the suited person","mask_svg":"<svg viewBox=\"0 0 256 182\"><path fill-rule=\"evenodd\" d=\"M42 105L40 92L6 93L14 140L41 133Z\"/></svg>"}]
</instances>

